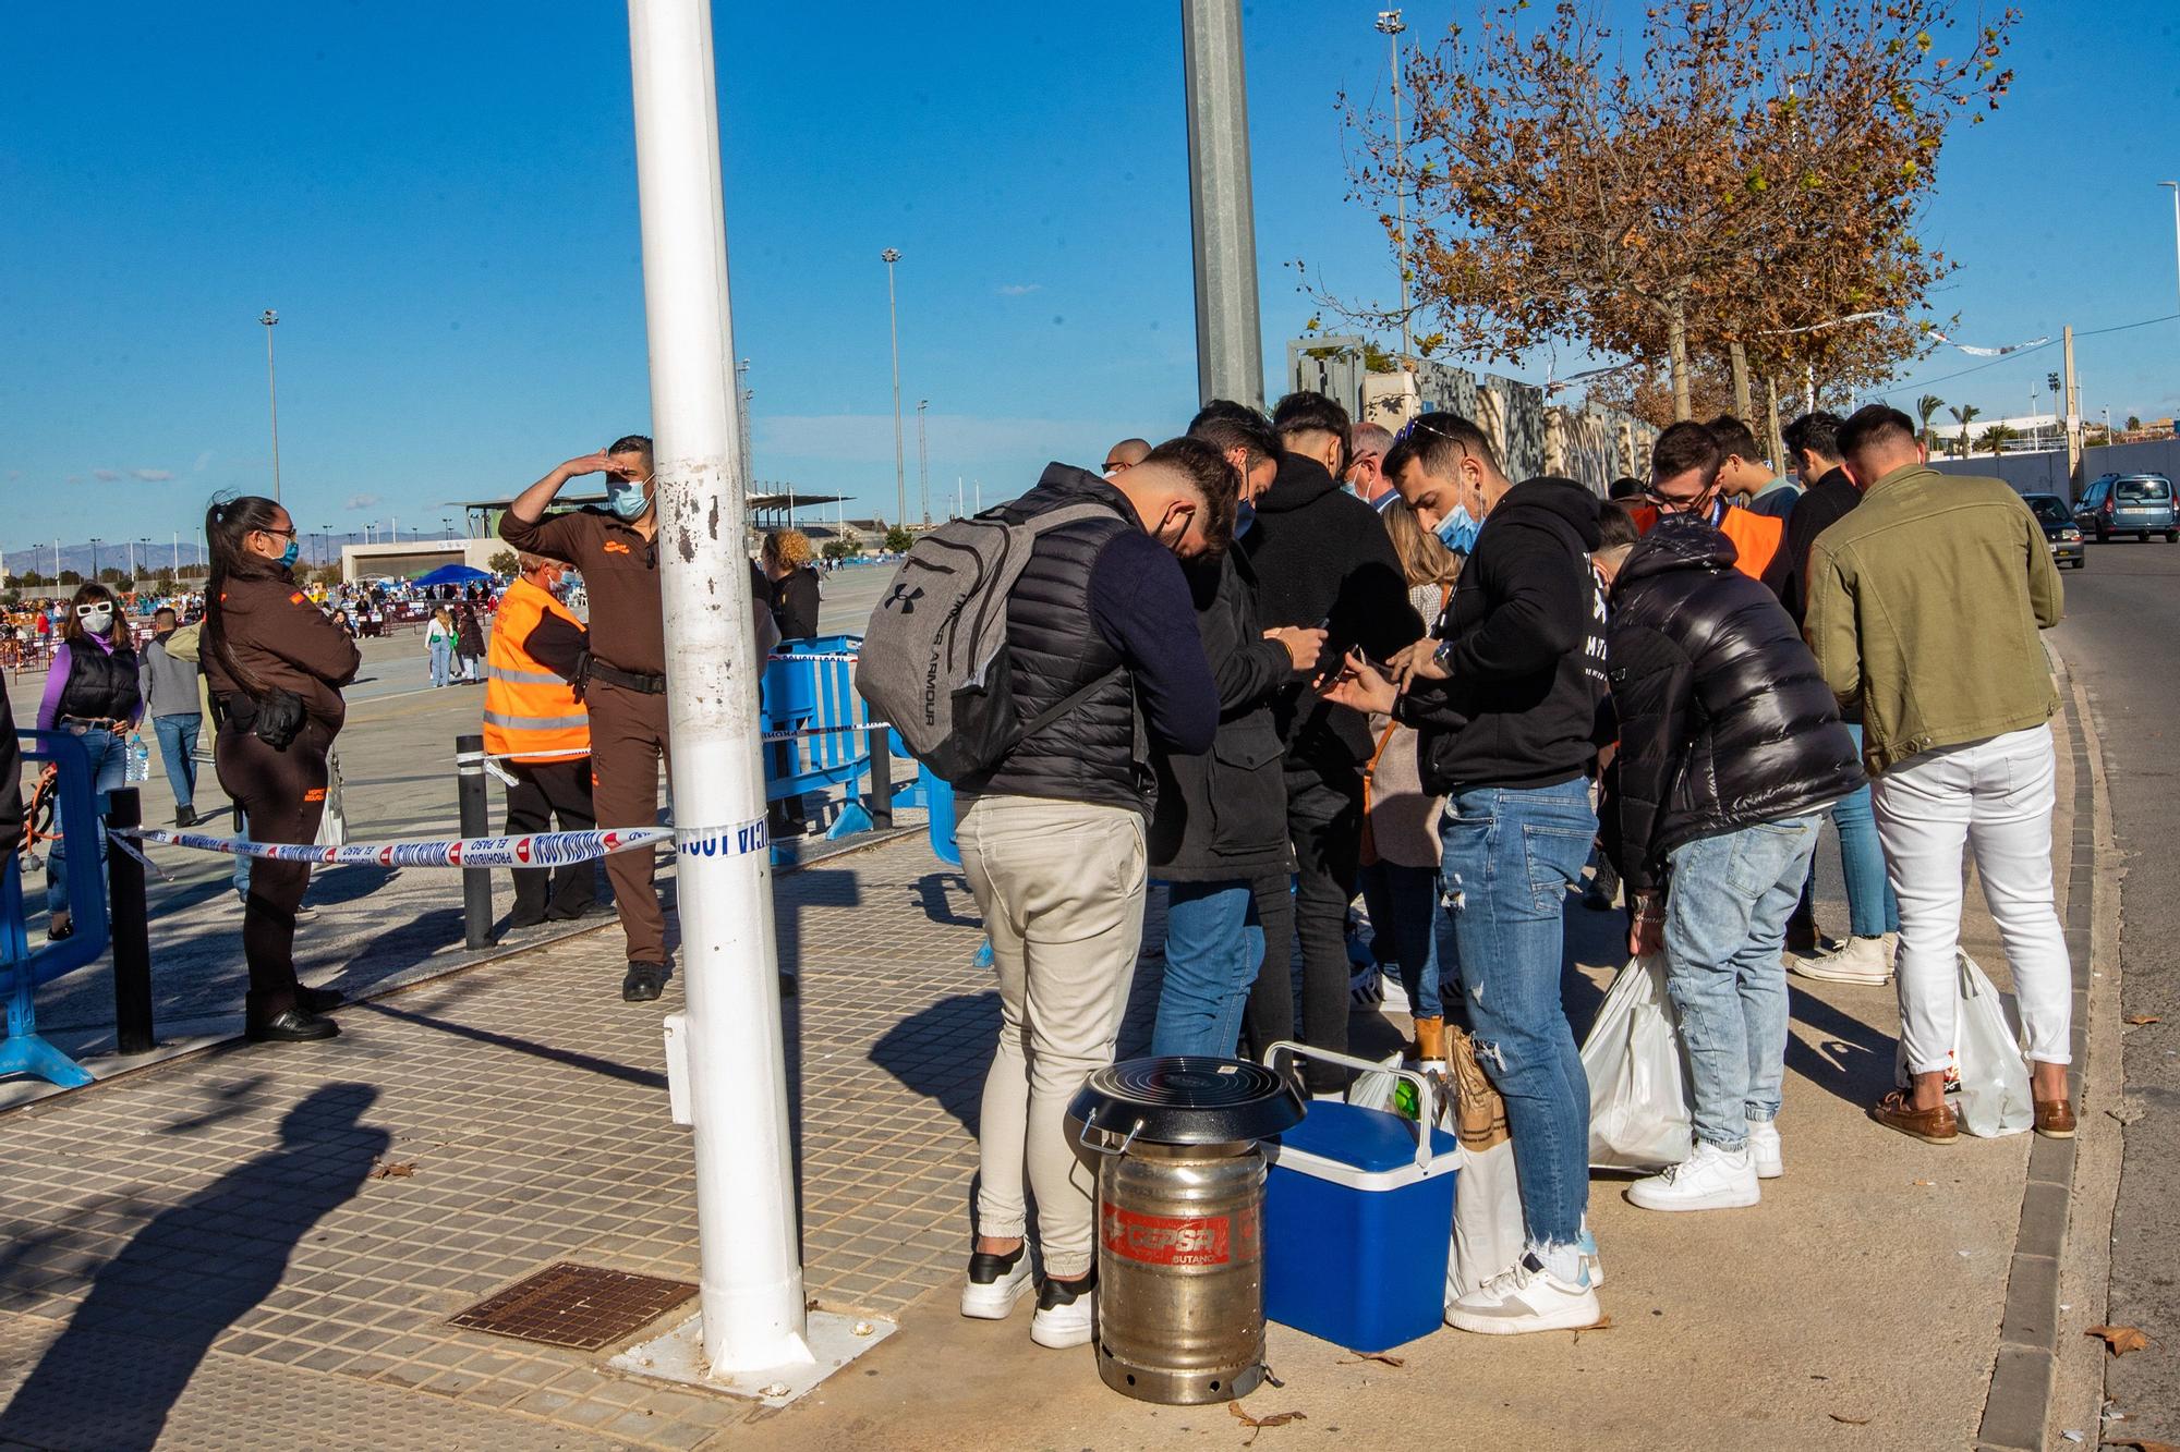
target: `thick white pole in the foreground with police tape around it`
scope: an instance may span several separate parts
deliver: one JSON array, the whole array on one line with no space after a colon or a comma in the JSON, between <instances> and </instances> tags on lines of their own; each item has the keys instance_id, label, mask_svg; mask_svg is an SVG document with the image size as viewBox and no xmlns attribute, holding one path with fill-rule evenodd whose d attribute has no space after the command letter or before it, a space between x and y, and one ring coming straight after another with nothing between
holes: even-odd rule
<instances>
[{"instance_id":1,"label":"thick white pole in the foreground with police tape around it","mask_svg":"<svg viewBox=\"0 0 2180 1452\"><path fill-rule=\"evenodd\" d=\"M791 1395L818 1360L796 1230L752 602L730 412L735 323L708 0L630 0L667 737L680 848L704 1376ZM887 277L892 277L887 249ZM896 414L898 416L898 414ZM676 1332L682 1334L682 1332ZM872 1336L874 1339L874 1336ZM850 1352L852 1354L852 1352Z\"/></svg>"}]
</instances>

